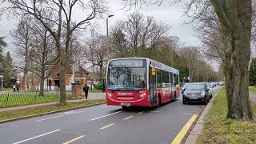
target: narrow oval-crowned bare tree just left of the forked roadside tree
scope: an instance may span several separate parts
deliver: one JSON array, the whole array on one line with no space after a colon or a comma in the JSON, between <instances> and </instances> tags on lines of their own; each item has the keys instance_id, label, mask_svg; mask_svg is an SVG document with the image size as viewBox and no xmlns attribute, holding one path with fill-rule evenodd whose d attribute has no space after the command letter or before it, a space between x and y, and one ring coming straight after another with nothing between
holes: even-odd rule
<instances>
[{"instance_id":1,"label":"narrow oval-crowned bare tree just left of the forked roadside tree","mask_svg":"<svg viewBox=\"0 0 256 144\"><path fill-rule=\"evenodd\" d=\"M32 65L29 66L30 72L40 78L39 95L44 95L45 79L50 76L50 68L56 65L58 58L54 39L51 37L46 27L38 25L38 21L31 22L30 55Z\"/></svg>"}]
</instances>

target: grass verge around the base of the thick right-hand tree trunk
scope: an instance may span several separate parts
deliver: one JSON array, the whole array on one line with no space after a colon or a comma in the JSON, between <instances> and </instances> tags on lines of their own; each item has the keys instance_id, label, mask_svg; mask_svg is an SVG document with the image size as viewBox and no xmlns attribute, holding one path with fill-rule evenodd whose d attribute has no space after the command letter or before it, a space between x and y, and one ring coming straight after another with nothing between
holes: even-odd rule
<instances>
[{"instance_id":1,"label":"grass verge around the base of the thick right-hand tree trunk","mask_svg":"<svg viewBox=\"0 0 256 144\"><path fill-rule=\"evenodd\" d=\"M256 114L256 103L252 104ZM213 105L206 114L202 134L197 143L255 143L256 122L242 122L226 119L227 102L226 91L220 90Z\"/></svg>"}]
</instances>

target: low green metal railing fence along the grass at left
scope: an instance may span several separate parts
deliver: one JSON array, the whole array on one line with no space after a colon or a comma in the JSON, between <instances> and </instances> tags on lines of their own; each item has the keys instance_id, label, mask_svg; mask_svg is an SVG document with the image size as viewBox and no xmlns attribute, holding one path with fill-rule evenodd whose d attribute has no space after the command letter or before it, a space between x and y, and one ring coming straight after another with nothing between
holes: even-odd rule
<instances>
[{"instance_id":1,"label":"low green metal railing fence along the grass at left","mask_svg":"<svg viewBox=\"0 0 256 144\"><path fill-rule=\"evenodd\" d=\"M46 92L43 96L39 95L37 90L22 91L1 91L0 90L0 108L12 106L26 106L31 104L58 102L59 94L56 92Z\"/></svg>"}]
</instances>

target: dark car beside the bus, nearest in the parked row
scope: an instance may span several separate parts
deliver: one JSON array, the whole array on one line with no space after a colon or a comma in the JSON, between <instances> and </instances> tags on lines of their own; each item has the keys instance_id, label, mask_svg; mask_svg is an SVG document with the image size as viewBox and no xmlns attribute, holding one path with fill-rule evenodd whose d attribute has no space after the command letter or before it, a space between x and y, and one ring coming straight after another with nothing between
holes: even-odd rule
<instances>
[{"instance_id":1,"label":"dark car beside the bus, nearest in the parked row","mask_svg":"<svg viewBox=\"0 0 256 144\"><path fill-rule=\"evenodd\" d=\"M183 104L187 102L203 102L208 104L210 101L209 91L210 89L208 89L206 82L189 83L182 94Z\"/></svg>"}]
</instances>

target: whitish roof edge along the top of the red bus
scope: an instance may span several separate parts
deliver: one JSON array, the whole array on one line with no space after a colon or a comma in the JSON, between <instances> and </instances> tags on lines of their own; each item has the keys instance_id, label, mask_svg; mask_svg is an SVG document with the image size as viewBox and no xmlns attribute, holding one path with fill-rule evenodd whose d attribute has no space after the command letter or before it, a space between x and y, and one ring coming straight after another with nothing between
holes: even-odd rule
<instances>
[{"instance_id":1,"label":"whitish roof edge along the top of the red bus","mask_svg":"<svg viewBox=\"0 0 256 144\"><path fill-rule=\"evenodd\" d=\"M170 66L166 66L165 64L162 64L161 62L154 61L153 59L150 59L150 58L136 58L136 57L131 57L131 58L114 58L114 59L110 59L110 61L121 60L121 59L145 59L146 62L148 62L148 64L151 64L156 69L166 70L166 71L169 71L169 72L174 73L174 74L179 74L179 70L174 69L173 67L170 67Z\"/></svg>"}]
</instances>

